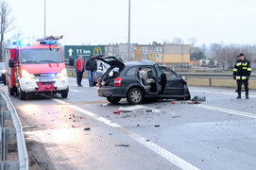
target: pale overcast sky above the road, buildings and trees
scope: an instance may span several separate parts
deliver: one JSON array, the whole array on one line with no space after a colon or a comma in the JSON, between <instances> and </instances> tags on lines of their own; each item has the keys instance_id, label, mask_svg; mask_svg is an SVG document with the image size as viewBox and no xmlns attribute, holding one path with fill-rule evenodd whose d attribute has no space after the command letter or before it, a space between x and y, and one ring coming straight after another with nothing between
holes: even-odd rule
<instances>
[{"instance_id":1,"label":"pale overcast sky above the road, buildings and trees","mask_svg":"<svg viewBox=\"0 0 256 170\"><path fill-rule=\"evenodd\" d=\"M43 38L44 0L6 0L23 37ZM46 35L65 45L128 42L128 0L45 0ZM130 0L130 42L255 44L255 0Z\"/></svg>"}]
</instances>

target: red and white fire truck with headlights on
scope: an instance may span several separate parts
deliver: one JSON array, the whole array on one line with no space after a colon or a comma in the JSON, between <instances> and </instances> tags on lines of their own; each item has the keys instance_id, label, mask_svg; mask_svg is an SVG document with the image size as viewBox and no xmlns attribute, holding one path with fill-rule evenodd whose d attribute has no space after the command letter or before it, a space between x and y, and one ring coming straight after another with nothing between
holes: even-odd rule
<instances>
[{"instance_id":1,"label":"red and white fire truck with headlights on","mask_svg":"<svg viewBox=\"0 0 256 170\"><path fill-rule=\"evenodd\" d=\"M13 42L5 50L6 80L10 95L26 99L27 93L60 93L68 96L68 76L58 41L62 36L49 36L33 44ZM74 65L74 59L69 59Z\"/></svg>"}]
</instances>

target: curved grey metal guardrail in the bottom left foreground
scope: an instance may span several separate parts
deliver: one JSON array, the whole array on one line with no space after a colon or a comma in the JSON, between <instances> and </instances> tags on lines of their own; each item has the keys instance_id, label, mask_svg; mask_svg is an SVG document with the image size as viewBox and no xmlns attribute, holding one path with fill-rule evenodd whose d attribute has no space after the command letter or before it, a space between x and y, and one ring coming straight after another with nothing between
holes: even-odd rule
<instances>
[{"instance_id":1,"label":"curved grey metal guardrail in the bottom left foreground","mask_svg":"<svg viewBox=\"0 0 256 170\"><path fill-rule=\"evenodd\" d=\"M28 157L26 152L26 142L23 134L23 127L18 114L10 102L7 93L0 91L0 109L7 107L8 110L0 114L0 132L1 132L1 170L28 170ZM12 120L14 127L5 127L5 120ZM19 161L8 161L8 142L10 139L16 139Z\"/></svg>"}]
</instances>

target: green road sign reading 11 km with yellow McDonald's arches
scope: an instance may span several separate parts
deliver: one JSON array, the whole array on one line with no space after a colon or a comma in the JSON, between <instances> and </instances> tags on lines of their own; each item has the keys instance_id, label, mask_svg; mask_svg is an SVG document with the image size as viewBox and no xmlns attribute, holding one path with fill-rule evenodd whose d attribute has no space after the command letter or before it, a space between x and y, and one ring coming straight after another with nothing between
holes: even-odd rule
<instances>
[{"instance_id":1,"label":"green road sign reading 11 km with yellow McDonald's arches","mask_svg":"<svg viewBox=\"0 0 256 170\"><path fill-rule=\"evenodd\" d=\"M105 50L102 45L65 45L64 53L65 59L78 59L80 55L83 59L89 59L92 54L105 54Z\"/></svg>"}]
</instances>

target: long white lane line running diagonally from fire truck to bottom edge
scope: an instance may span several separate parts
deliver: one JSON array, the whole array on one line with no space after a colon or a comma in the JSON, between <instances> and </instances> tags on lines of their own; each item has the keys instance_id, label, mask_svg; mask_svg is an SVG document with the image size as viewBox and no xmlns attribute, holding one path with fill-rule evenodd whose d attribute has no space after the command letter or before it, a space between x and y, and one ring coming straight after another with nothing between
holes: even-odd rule
<instances>
[{"instance_id":1,"label":"long white lane line running diagonally from fire truck to bottom edge","mask_svg":"<svg viewBox=\"0 0 256 170\"><path fill-rule=\"evenodd\" d=\"M179 158L177 155L171 153L170 151L162 148L160 145L155 144L153 142L147 141L147 139L145 139L145 137L140 136L136 133L134 133L133 131L130 131L128 129L126 129L125 127L122 127L116 123L111 122L111 120L106 119L104 117L98 116L97 114L88 111L88 110L83 110L81 108L78 108L77 106L74 105L70 105L69 103L66 103L64 101L61 101L59 99L52 99L60 104L64 104L65 106L68 106L74 110L80 111L88 116L91 116L92 118L94 118L95 120L98 120L102 123L105 123L106 125L110 126L110 127L115 127L117 129L120 129L121 131L123 131L124 133L126 133L130 138L132 138L133 140L137 141L140 144L145 145L147 148L149 148L150 150L156 152L157 154L159 154L160 156L162 156L162 158L166 159L167 161L170 161L171 163L177 165L179 168L184 169L184 170L199 170L199 168L197 168L195 165L191 164L188 161L184 161L183 159Z\"/></svg>"}]
</instances>

